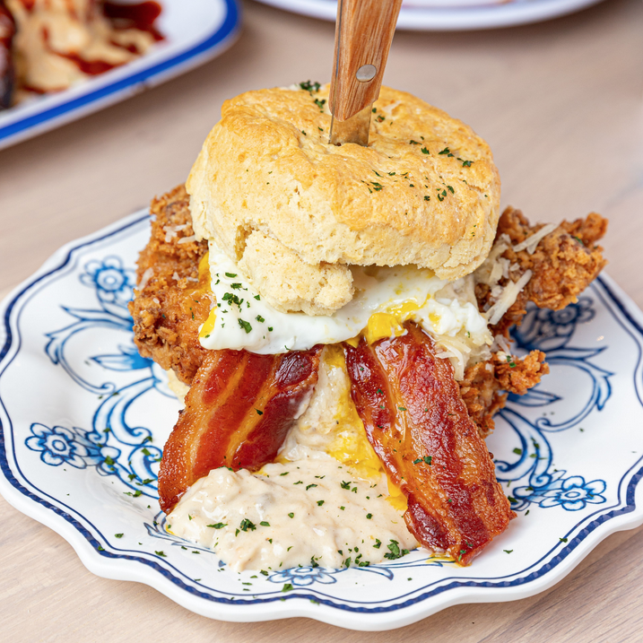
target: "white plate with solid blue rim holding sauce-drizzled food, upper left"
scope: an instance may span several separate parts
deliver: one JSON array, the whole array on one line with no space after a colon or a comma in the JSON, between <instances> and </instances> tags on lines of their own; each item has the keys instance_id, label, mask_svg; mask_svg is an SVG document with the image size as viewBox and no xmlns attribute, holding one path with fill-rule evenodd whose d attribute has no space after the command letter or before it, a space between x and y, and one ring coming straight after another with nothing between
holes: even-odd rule
<instances>
[{"instance_id":1,"label":"white plate with solid blue rim holding sauce-drizzled food, upper left","mask_svg":"<svg viewBox=\"0 0 643 643\"><path fill-rule=\"evenodd\" d=\"M0 150L165 83L219 56L239 34L238 0L159 0L165 40L131 63L0 111Z\"/></svg>"}]
</instances>

